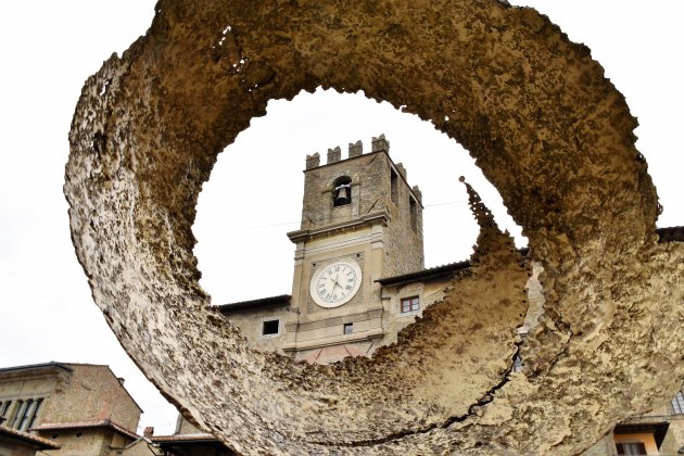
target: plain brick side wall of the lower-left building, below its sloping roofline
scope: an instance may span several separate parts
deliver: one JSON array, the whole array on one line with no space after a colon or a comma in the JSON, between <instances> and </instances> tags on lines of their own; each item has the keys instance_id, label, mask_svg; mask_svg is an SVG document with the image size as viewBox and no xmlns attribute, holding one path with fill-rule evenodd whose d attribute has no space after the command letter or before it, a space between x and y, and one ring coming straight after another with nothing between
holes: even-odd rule
<instances>
[{"instance_id":1,"label":"plain brick side wall of the lower-left building, below its sloping roofline","mask_svg":"<svg viewBox=\"0 0 684 456\"><path fill-rule=\"evenodd\" d=\"M69 367L74 369L74 375L58 384L48 401L43 422L110 419L136 431L141 411L107 366Z\"/></svg>"}]
</instances>

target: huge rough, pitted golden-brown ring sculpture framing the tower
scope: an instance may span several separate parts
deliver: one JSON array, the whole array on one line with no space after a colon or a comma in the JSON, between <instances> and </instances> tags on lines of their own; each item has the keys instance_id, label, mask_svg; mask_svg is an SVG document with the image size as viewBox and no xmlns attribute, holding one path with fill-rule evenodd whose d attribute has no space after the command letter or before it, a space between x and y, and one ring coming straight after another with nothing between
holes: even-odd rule
<instances>
[{"instance_id":1,"label":"huge rough, pitted golden-brown ring sculpture framing the tower","mask_svg":"<svg viewBox=\"0 0 684 456\"><path fill-rule=\"evenodd\" d=\"M494 0L156 9L86 83L64 191L94 301L201 427L249 454L572 454L674 394L684 249L657 243L636 121L588 49ZM499 190L545 270L524 373L508 375L529 271L482 207L473 274L370 360L250 351L207 308L202 182L268 100L318 86L432 121Z\"/></svg>"}]
</instances>

